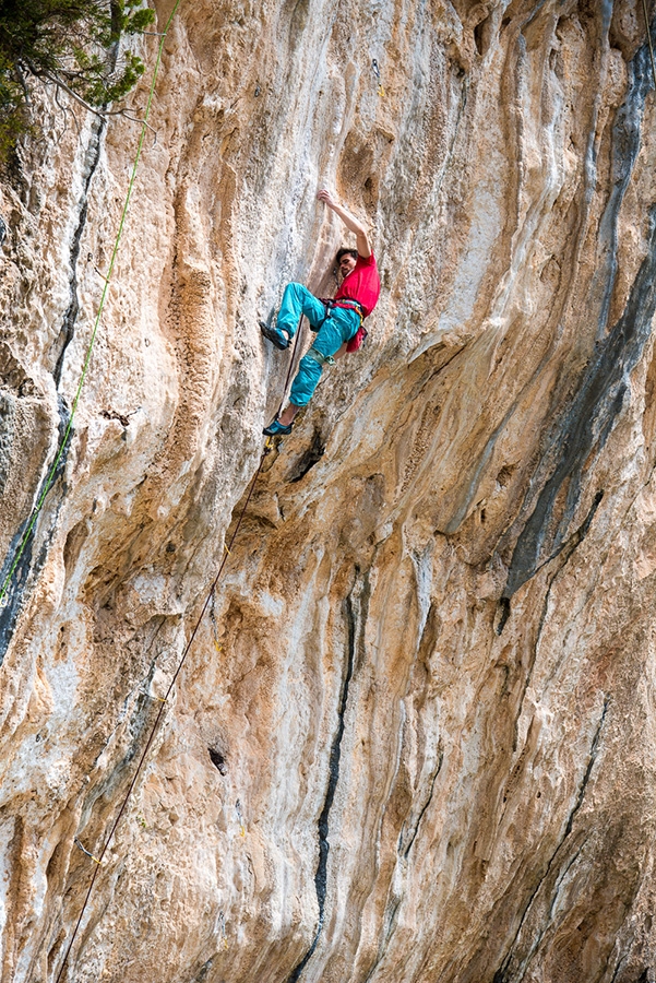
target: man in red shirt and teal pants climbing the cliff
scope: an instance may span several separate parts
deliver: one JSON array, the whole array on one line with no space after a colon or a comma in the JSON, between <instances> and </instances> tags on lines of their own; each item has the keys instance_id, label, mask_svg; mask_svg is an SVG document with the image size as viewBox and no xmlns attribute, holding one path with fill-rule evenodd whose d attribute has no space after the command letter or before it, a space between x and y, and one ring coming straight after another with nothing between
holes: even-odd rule
<instances>
[{"instance_id":1,"label":"man in red shirt and teal pants climbing the cliff","mask_svg":"<svg viewBox=\"0 0 656 983\"><path fill-rule=\"evenodd\" d=\"M291 383L289 404L272 424L264 428L267 437L291 433L291 425L299 410L310 402L323 366L333 365L346 352L355 352L367 334L361 327L380 296L380 280L375 259L369 245L365 226L339 205L329 191L317 196L335 212L346 228L355 233L356 249L339 249L337 267L342 279L334 299L319 300L300 283L289 283L283 294L276 327L260 321L260 330L276 348L287 348L299 327L301 313L310 322L317 337L298 366Z\"/></svg>"}]
</instances>

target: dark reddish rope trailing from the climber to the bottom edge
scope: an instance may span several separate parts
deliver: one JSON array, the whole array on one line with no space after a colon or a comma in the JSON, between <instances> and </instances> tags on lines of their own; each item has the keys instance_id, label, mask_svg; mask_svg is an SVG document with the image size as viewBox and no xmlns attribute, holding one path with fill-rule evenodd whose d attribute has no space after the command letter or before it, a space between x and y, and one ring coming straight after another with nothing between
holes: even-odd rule
<instances>
[{"instance_id":1,"label":"dark reddish rope trailing from the climber to the bottom edge","mask_svg":"<svg viewBox=\"0 0 656 983\"><path fill-rule=\"evenodd\" d=\"M167 26L168 26L168 25L167 25ZM297 353L297 350L298 350L299 339L300 339L300 334L301 334L301 327L302 327L302 315L301 315L301 318L300 318L300 320L299 320L299 323L298 323L298 330L297 330L297 332L296 332L296 336L295 336L295 340L294 340L294 346L293 346L293 348L291 348L291 358L289 359L289 366L288 366L288 368L287 368L287 377L286 377L286 379L285 379L285 387L284 387L284 389L283 389L283 398L282 398L282 400L281 400L281 404L279 404L279 407L278 407L278 413L277 413L276 415L278 415L278 414L281 413L281 411L282 411L282 408L283 408L283 404L284 404L284 402L285 402L285 395L286 395L286 393L287 393L287 387L289 386L289 379L290 379L290 377L291 377L291 371L293 371L293 369L294 369L294 364L295 364L295 360L296 360L296 353ZM214 623L214 596L215 596L216 588L218 587L218 582L219 582L219 580L220 580L220 578L222 578L222 575L223 575L224 568L225 568L225 566L226 566L226 562L227 562L227 560L228 560L228 557L231 556L232 545L234 545L235 540L237 538L237 535L238 535L238 533L239 533L239 529L240 529L240 526L241 526L241 522L242 522L242 520L243 520L243 517L244 517L244 514L246 514L246 510L248 509L248 506L249 506L250 500L251 500L251 498L252 498L253 492L255 490L255 485L258 484L258 478L260 477L260 473L261 473L261 471L262 471L262 465L264 464L264 459L265 459L266 455L270 453L271 449L272 449L272 438L267 438L267 440L266 440L266 442L265 442L265 445L264 445L264 448L263 448L263 450L262 450L262 454L261 454L261 457L260 457L260 463L258 464L258 469L257 469L257 471L255 471L255 474L253 475L253 477L252 477L252 479L251 479L251 483L250 483L250 485L249 485L248 494L247 494L247 496L246 496L246 501L243 502L243 506L242 506L241 511L240 511L240 513L239 513L239 518L237 519L237 524L235 525L235 529L234 529L234 531L232 531L232 535L230 536L229 542L224 544L223 559L222 559L220 565L219 565L219 567L218 567L218 572L216 573L216 577L214 578L214 580L213 580L213 582L212 582L212 587L211 587L210 590L207 591L207 595L206 595L205 601L204 601L204 603L203 603L203 606L202 606L202 608L201 608L201 613L199 614L199 616L198 616L198 618L196 618L196 621L195 621L195 624L194 624L194 626L193 626L193 630L192 630L192 632L191 632L191 635L190 635L190 637L189 637L189 640L188 640L187 644L184 646L184 649L183 649L182 655L180 656L180 660L179 660L179 662L178 662L178 666L177 666L177 668L176 668L176 672L174 673L172 678L171 678L171 680L170 680L170 683L169 683L169 685L168 685L168 689L166 690L165 696L159 700L159 703L160 703L159 710L157 711L157 715L156 715L156 718L155 718L155 722L154 722L153 726L151 727L151 732L150 732L150 734L148 734L148 738L147 738L147 741L146 741L145 747L144 747L144 749L143 749L143 751L142 751L142 754L141 754L141 757L140 757L140 759L139 759L139 763L138 763L138 766L136 766L136 770L134 771L134 774L132 775L132 780L131 780L131 782L130 782L130 784L129 784L129 786L128 786L128 791L126 792L126 795L124 795L123 801L122 801L122 803L121 803L121 806L120 806L120 808L119 808L119 810L118 810L118 814L117 814L117 816L116 816L116 819L114 820L114 822L112 822L112 825L111 825L111 828L110 828L109 833L108 833L108 836L107 836L107 838L106 838L106 840L105 840L105 843L103 844L103 848L102 848L100 852L99 852L98 855L96 856L95 854L91 853L91 851L88 851L88 850L80 842L80 840L77 840L76 837L75 837L75 839L74 839L75 845L79 846L80 850L82 850L82 852L86 854L86 856L88 856L91 860L93 860L96 866L95 866L95 869L94 869L94 873L93 873L91 883L90 883L90 885L88 885L88 888L87 888L87 891L86 891L84 901L83 901L83 903L82 903L82 909L81 909L80 914L79 914L79 916L77 916L77 921L75 922L75 927L74 927L74 929L73 929L73 934L71 935L70 941L69 941L69 944L68 944L68 947L67 947L67 950L65 950L65 954L64 954L64 957L63 957L63 961L62 961L62 963L61 963L61 967L60 967L60 969L59 969L59 973L58 973L58 975L57 975L57 979L56 979L55 983L60 983L60 980L61 980L61 978L62 978L62 975L63 975L64 969L65 969L67 963L68 963L69 956L70 956L70 954L71 954L71 949L72 949L72 947L73 947L73 944L74 944L75 938L76 938L76 936L77 936L77 933L79 933L79 931L80 931L80 926L82 925L82 919L84 917L84 912L86 911L86 909L87 909L87 907L88 907L88 902L90 902L90 899L91 899L91 896L92 896L92 891L93 891L93 889L94 889L94 885L95 885L95 883L96 883L96 878L97 878L98 873L99 873L99 871L100 871L100 867L102 867L102 865L103 865L103 860L104 860L105 854L107 853L107 851L108 851L108 849L109 849L109 846L110 846L110 844L111 844L111 842L112 842L112 840L114 840L114 836L115 836L115 833L116 833L116 831L117 831L117 829L118 829L118 825L119 825L119 822L121 821L121 818L123 817L123 815L124 815L124 813L126 813L126 809L128 808L128 804L129 804L130 798L131 798L131 796L132 796L132 793L133 793L133 791L134 791L134 786L136 785L136 780L139 779L139 775L140 775L141 772L142 772L142 769L143 769L143 766L144 766L145 760L146 760L146 758L147 758L148 751L150 751L150 749L151 749L151 747L152 747L152 745L153 745L153 741L155 739L155 734L156 734L156 732L157 732L157 727L159 726L159 722L160 722L160 720L162 720L162 718L163 718L163 715L164 715L164 711L165 711L165 709L166 709L166 704L168 703L168 699L169 699L169 697L170 697L170 695L171 695L171 691L172 691L172 689L174 689L174 686L176 685L176 682L177 682L177 679L178 679L178 676L180 675L180 673L181 673L181 671L182 671L182 666L184 665L184 662L186 662L186 660L187 660L187 656L189 655L189 652L190 652L191 647L192 647L192 644L193 644L193 641L194 641L194 639L195 639L195 637L196 637L196 633L198 633L198 631L199 631L199 628L200 628L200 626L201 626L201 623L202 623L202 620L203 620L203 617L205 616L205 612L207 611L208 607L210 607L210 613L211 613L212 621L213 621L213 626L212 626L212 627L213 627L214 644L215 644L215 647L217 648L217 651L218 651L218 649L220 648L220 647L218 646L218 642L217 642L217 639L216 639L215 623ZM239 801L238 801L238 803L239 803ZM239 808L239 805L238 805L238 808ZM241 814L240 814L240 815L241 815ZM241 829L241 836L244 836L244 834L246 834L246 830L244 830L244 826L243 826L243 820L242 820L241 818L240 818L240 829ZM225 934L225 933L224 933L224 934ZM224 940L225 940L225 939L224 939Z\"/></svg>"}]
</instances>

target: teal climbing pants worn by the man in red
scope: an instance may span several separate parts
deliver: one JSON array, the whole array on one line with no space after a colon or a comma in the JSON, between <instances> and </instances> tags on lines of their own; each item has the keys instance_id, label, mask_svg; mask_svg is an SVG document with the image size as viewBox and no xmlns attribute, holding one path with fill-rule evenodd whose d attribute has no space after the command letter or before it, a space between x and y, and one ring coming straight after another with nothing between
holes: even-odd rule
<instances>
[{"instance_id":1,"label":"teal climbing pants worn by the man in red","mask_svg":"<svg viewBox=\"0 0 656 983\"><path fill-rule=\"evenodd\" d=\"M300 283L288 283L283 294L283 303L276 325L294 337L300 316L303 313L310 327L317 331L312 347L324 358L339 351L344 342L350 341L360 324L355 310L333 307L326 318L325 306ZM289 401L295 406L307 406L317 389L323 366L311 355L301 358L298 372L291 383Z\"/></svg>"}]
</instances>

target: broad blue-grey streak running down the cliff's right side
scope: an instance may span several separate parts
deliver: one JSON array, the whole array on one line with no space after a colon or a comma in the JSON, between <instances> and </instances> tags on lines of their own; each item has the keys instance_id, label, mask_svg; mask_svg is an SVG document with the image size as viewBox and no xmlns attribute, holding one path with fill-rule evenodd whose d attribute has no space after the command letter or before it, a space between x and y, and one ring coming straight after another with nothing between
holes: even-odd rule
<instances>
[{"instance_id":1,"label":"broad blue-grey streak running down the cliff's right side","mask_svg":"<svg viewBox=\"0 0 656 983\"><path fill-rule=\"evenodd\" d=\"M629 376L651 337L656 310L654 202L645 204L649 225L646 256L631 285L624 310L611 329L607 324L617 274L615 252L618 223L642 145L645 100L653 88L651 71L645 43L629 62L627 95L612 125L611 193L599 220L599 241L606 249L607 259L599 263L595 274L599 288L603 287L598 301L595 352L544 451L538 473L532 483L533 487L541 484L541 489L535 502L529 505L528 496L525 500L529 514L513 550L503 592L508 599L535 575L542 565L542 557L553 555L566 540L580 504L584 478L591 473L592 463L616 426L623 410ZM563 489L562 514L556 517L554 508ZM508 609L508 605L505 607Z\"/></svg>"}]
</instances>

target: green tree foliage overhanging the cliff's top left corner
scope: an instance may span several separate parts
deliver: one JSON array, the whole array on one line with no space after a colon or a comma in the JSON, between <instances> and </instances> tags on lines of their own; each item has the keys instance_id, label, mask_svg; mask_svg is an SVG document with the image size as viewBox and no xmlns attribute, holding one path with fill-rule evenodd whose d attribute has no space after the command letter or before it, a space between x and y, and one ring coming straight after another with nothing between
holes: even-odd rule
<instances>
[{"instance_id":1,"label":"green tree foliage overhanging the cliff's top left corner","mask_svg":"<svg viewBox=\"0 0 656 983\"><path fill-rule=\"evenodd\" d=\"M154 20L142 0L0 0L0 158L27 126L35 84L55 84L97 109L120 100L144 66L124 34Z\"/></svg>"}]
</instances>

